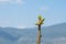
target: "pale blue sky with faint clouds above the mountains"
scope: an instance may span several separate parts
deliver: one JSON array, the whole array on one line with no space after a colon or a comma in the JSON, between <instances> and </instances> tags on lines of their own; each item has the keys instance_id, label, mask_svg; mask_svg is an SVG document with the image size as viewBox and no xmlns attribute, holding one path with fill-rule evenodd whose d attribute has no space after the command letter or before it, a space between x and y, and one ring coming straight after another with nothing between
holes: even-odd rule
<instances>
[{"instance_id":1,"label":"pale blue sky with faint clouds above the mountains","mask_svg":"<svg viewBox=\"0 0 66 44\"><path fill-rule=\"evenodd\" d=\"M66 0L0 0L0 26L33 28L38 14L43 26L66 23Z\"/></svg>"}]
</instances>

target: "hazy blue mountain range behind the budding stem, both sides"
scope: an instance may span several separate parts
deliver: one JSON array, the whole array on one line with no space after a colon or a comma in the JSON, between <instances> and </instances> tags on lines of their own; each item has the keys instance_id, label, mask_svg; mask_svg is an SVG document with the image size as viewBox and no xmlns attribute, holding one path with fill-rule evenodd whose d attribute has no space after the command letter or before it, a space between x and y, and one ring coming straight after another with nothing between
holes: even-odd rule
<instances>
[{"instance_id":1,"label":"hazy blue mountain range behind the budding stem, both sides","mask_svg":"<svg viewBox=\"0 0 66 44\"><path fill-rule=\"evenodd\" d=\"M0 44L36 44L37 28L0 28ZM42 28L42 44L66 44L66 23Z\"/></svg>"}]
</instances>

